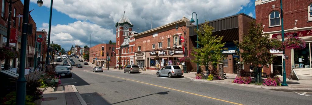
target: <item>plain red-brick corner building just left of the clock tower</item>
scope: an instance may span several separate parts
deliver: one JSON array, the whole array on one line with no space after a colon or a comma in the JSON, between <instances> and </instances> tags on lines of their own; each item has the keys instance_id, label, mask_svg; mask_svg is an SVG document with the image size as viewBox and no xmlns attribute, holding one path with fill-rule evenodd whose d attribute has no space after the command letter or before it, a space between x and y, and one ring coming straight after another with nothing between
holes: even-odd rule
<instances>
[{"instance_id":1,"label":"plain red-brick corner building just left of the clock tower","mask_svg":"<svg viewBox=\"0 0 312 105\"><path fill-rule=\"evenodd\" d=\"M89 61L104 68L109 64L110 68L116 66L115 44L97 44L90 48ZM110 59L110 63L107 61Z\"/></svg>"}]
</instances>

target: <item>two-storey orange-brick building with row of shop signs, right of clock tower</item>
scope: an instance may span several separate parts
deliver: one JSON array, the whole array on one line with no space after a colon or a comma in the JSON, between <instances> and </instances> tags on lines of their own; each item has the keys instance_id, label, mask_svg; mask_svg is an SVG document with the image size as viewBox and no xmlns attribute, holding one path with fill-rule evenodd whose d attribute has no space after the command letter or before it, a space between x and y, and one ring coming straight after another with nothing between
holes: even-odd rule
<instances>
[{"instance_id":1,"label":"two-storey orange-brick building with row of shop signs, right of clock tower","mask_svg":"<svg viewBox=\"0 0 312 105\"><path fill-rule=\"evenodd\" d=\"M179 65L183 69L183 62L179 58L184 57L185 51L182 47L185 43L181 42L178 35L188 38L188 34L184 36L180 26L177 31L177 24L185 31L190 26L189 20L183 17L181 20L135 34L135 65L145 66L150 70L168 65Z\"/></svg>"}]
</instances>

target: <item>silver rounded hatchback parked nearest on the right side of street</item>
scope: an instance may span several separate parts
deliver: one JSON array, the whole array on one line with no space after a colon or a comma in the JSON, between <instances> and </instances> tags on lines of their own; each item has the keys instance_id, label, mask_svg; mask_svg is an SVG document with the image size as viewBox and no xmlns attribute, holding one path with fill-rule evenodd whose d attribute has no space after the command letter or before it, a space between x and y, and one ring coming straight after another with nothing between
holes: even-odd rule
<instances>
[{"instance_id":1,"label":"silver rounded hatchback parked nearest on the right side of street","mask_svg":"<svg viewBox=\"0 0 312 105\"><path fill-rule=\"evenodd\" d=\"M168 76L171 78L172 76L178 76L181 77L183 75L182 70L179 66L176 65L170 65L170 66L164 66L160 70L156 72L157 76Z\"/></svg>"}]
</instances>

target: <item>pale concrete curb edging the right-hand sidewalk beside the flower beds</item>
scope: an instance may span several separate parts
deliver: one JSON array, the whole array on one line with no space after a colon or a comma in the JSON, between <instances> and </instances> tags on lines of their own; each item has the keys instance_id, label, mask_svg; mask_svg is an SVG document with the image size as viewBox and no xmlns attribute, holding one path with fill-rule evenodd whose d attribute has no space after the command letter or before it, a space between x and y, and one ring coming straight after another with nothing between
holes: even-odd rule
<instances>
[{"instance_id":1,"label":"pale concrete curb edging the right-hand sidewalk beside the flower beds","mask_svg":"<svg viewBox=\"0 0 312 105\"><path fill-rule=\"evenodd\" d=\"M187 76L186 76L187 77ZM245 86L245 87L252 87L252 88L261 88L261 89L271 89L271 90L298 90L298 91L312 91L312 88L295 88L295 87L273 87L273 86L260 86L255 84L236 84L236 83L229 83L229 82L221 82L215 80L198 80L192 77L187 77L194 81L201 81L201 82L210 82L210 83L219 83L219 84L231 84L231 85L238 85L238 86Z\"/></svg>"}]
</instances>

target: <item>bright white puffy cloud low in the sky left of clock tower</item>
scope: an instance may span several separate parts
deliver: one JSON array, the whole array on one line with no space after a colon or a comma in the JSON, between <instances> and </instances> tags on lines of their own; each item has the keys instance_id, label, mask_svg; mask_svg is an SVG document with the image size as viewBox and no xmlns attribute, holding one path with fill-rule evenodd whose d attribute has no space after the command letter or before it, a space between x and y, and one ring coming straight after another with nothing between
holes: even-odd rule
<instances>
[{"instance_id":1,"label":"bright white puffy cloud low in the sky left of clock tower","mask_svg":"<svg viewBox=\"0 0 312 105\"><path fill-rule=\"evenodd\" d=\"M43 23L39 28L48 29L48 25ZM102 28L100 25L96 25L89 22L76 21L68 25L55 25L51 26L51 41L60 44L62 47L68 50L71 45L80 45L81 47L90 46L90 34L92 46L98 43L108 43L109 40L116 40L113 30Z\"/></svg>"}]
</instances>

